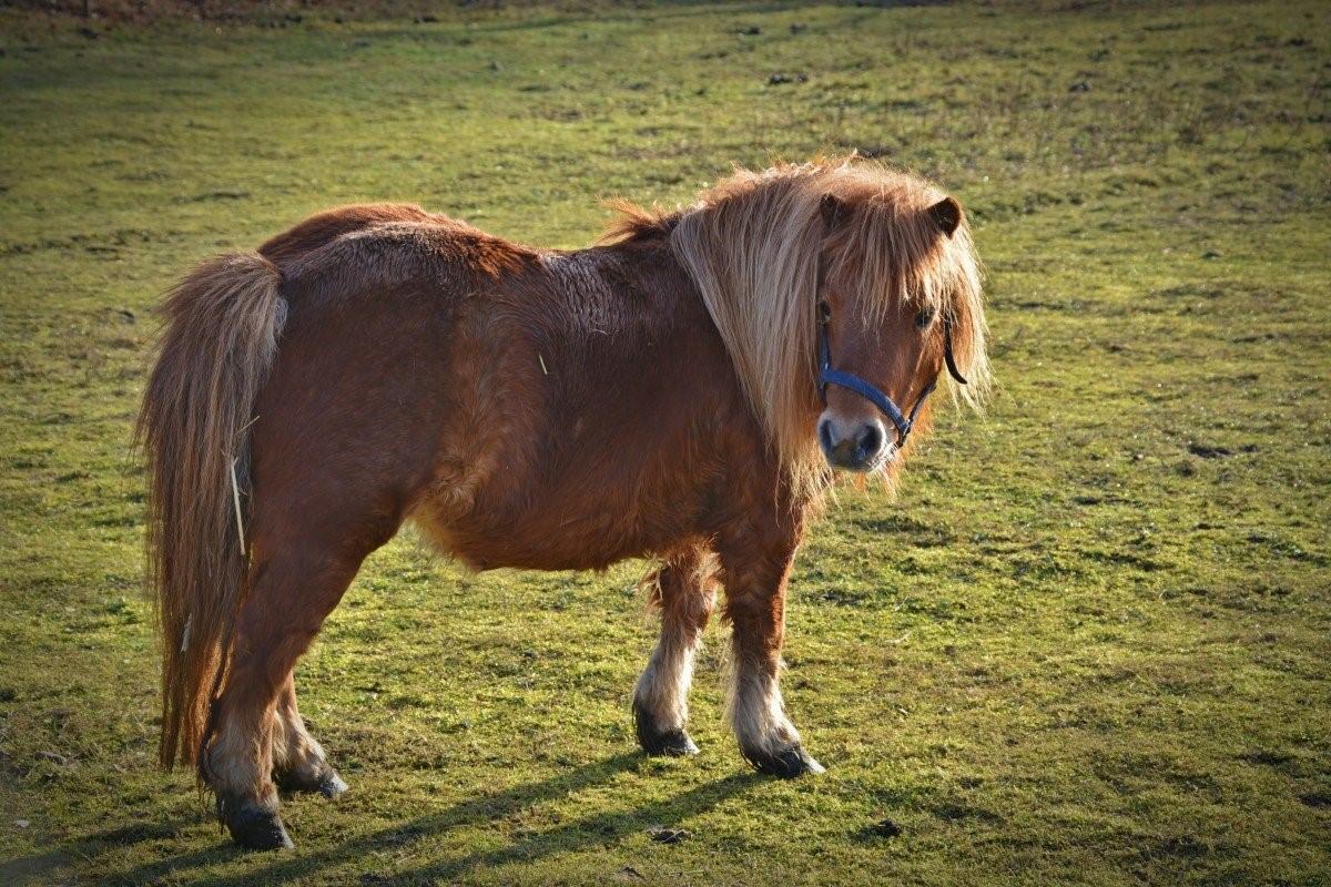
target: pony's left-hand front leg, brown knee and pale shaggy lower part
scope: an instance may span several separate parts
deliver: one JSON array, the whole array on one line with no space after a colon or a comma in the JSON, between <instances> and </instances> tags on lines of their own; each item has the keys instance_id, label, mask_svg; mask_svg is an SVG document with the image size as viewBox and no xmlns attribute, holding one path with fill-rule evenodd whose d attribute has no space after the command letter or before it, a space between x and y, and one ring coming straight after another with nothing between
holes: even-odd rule
<instances>
[{"instance_id":1,"label":"pony's left-hand front leg, brown knee and pale shaggy lower part","mask_svg":"<svg viewBox=\"0 0 1331 887\"><path fill-rule=\"evenodd\" d=\"M716 602L711 556L691 551L662 567L652 602L662 613L662 633L634 690L638 743L652 755L697 754L685 725L693 656Z\"/></svg>"}]
</instances>

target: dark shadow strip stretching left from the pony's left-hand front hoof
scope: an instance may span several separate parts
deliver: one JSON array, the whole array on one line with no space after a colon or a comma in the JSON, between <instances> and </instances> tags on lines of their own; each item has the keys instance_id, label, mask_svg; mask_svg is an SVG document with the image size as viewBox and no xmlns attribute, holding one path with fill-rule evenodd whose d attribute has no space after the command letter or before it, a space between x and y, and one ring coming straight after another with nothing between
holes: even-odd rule
<instances>
[{"instance_id":1,"label":"dark shadow strip stretching left from the pony's left-hand front hoof","mask_svg":"<svg viewBox=\"0 0 1331 887\"><path fill-rule=\"evenodd\" d=\"M280 854L276 863L266 868L256 868L236 876L202 878L196 883L221 886L250 884L250 883L281 883L309 876L329 866L335 866L350 859L365 858L366 854L389 848L401 848L421 838L446 831L458 826L476 822L491 822L508 817L526 807L562 798L572 791L579 791L610 781L616 774L631 770L643 762L640 753L624 753L595 761L580 767L552 775L539 782L528 782L514 786L495 795L484 795L462 801L443 811L419 817L410 822L389 826L379 831L349 838L338 844L317 852L301 852L297 855ZM297 835L299 839L299 835ZM599 840L604 835L598 836ZM114 874L110 879L128 883L153 882L168 875L177 875L185 870L202 864L220 862L230 855L248 854L234 848L229 842L221 847L212 847L172 859L161 859L142 866Z\"/></svg>"}]
</instances>

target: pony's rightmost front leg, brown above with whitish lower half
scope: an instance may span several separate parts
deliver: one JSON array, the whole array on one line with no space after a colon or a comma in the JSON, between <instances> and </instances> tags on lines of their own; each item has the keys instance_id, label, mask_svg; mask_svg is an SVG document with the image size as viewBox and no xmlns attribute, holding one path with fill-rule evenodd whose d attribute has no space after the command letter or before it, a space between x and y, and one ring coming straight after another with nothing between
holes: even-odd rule
<instances>
[{"instance_id":1,"label":"pony's rightmost front leg, brown above with whitish lower half","mask_svg":"<svg viewBox=\"0 0 1331 887\"><path fill-rule=\"evenodd\" d=\"M792 778L823 773L800 745L800 733L781 699L781 641L785 589L795 543L767 555L721 555L725 618L733 626L729 719L740 751L760 773Z\"/></svg>"}]
</instances>

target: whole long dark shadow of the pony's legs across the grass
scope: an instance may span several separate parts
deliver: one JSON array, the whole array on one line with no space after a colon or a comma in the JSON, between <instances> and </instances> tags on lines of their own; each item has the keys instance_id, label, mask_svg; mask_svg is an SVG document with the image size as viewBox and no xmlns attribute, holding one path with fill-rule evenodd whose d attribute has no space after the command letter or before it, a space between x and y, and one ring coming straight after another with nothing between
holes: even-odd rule
<instances>
[{"instance_id":1,"label":"whole long dark shadow of the pony's legs across the grass","mask_svg":"<svg viewBox=\"0 0 1331 887\"><path fill-rule=\"evenodd\" d=\"M192 878L189 871L246 852L228 843L225 847L210 847L170 859L160 859L122 872L106 872L104 878L117 883L188 879L192 883L210 884L213 887L241 887L242 884L252 883L273 884L303 880L330 867L351 860L365 860L377 851L401 851L414 842L451 828L492 823L544 801L563 798L570 793L608 782L616 774L634 769L642 761L643 757L639 753L614 755L562 773L550 779L514 786L496 795L463 801L441 813L418 817L417 819L397 823L379 831L354 835L326 850L298 852L294 855L265 855L257 858L256 863L270 864L256 864L253 868L246 868L246 871L234 875L194 875ZM708 782L673 798L644 805L636 810L594 813L576 822L523 838L506 847L446 856L409 871L370 876L373 876L375 884L449 882L475 868L488 868L511 862L531 862L555 852L570 852L591 846L604 846L608 842L643 831L651 824L669 826L679 823L688 817L715 807L721 801L740 794L747 787L761 781L763 777L757 774L737 774ZM116 831L130 832L134 830ZM93 835L48 854L51 859L47 867L75 860L88 863L97 852L105 851L113 844L124 846L124 839L116 839L116 831ZM174 834L169 826L161 826L152 831L154 834L141 839ZM295 835L295 838L299 840L299 835ZM17 860L17 863L27 862L28 866L41 866L44 859L45 856L33 856L28 860ZM4 871L8 871L8 867L0 870L0 872ZM39 870L25 867L23 875L36 874L36 871Z\"/></svg>"}]
</instances>

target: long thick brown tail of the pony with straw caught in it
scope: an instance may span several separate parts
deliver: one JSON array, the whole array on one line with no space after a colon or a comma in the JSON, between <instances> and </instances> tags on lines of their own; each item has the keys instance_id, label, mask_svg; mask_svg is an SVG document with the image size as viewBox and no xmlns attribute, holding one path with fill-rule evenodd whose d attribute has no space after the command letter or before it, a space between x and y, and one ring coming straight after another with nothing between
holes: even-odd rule
<instances>
[{"instance_id":1,"label":"long thick brown tail of the pony with straw caught in it","mask_svg":"<svg viewBox=\"0 0 1331 887\"><path fill-rule=\"evenodd\" d=\"M257 253L205 262L162 306L136 439L149 475L148 577L162 642L164 767L196 763L248 569L254 400L286 318Z\"/></svg>"}]
</instances>

